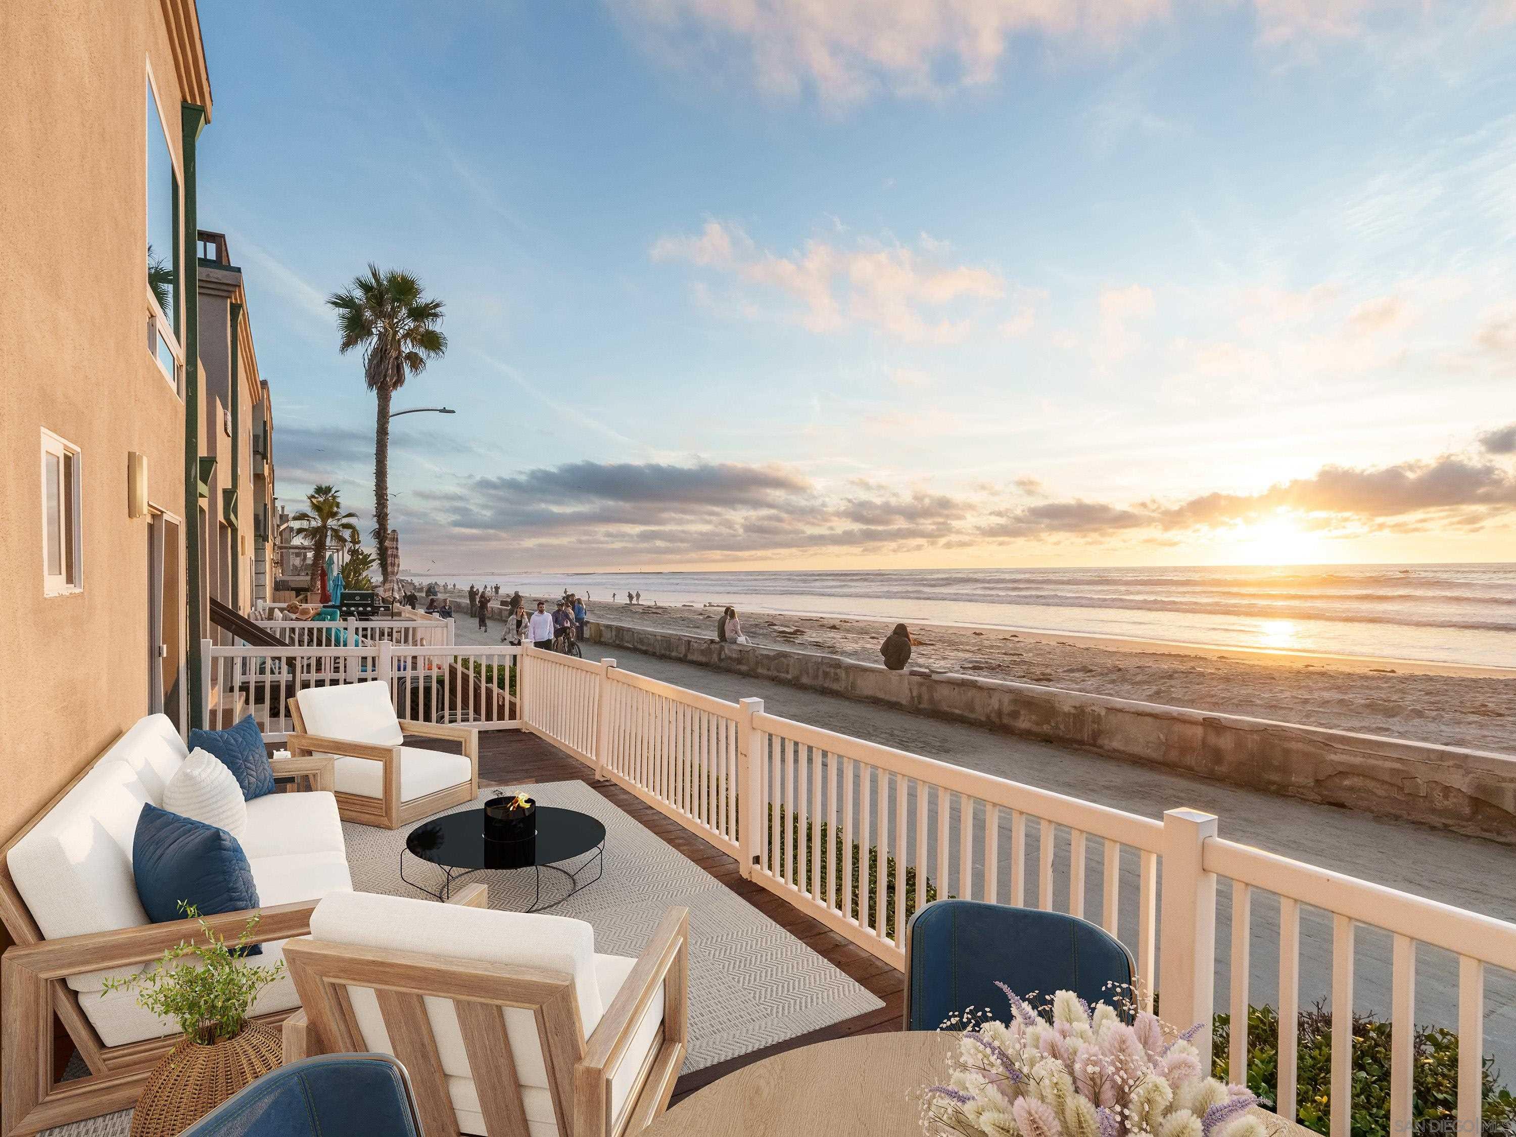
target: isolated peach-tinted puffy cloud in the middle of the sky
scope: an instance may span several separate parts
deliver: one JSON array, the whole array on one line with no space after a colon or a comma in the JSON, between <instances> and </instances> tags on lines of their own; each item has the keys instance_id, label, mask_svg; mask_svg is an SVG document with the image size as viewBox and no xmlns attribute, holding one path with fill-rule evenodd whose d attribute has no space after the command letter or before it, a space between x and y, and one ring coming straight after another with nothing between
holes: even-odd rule
<instances>
[{"instance_id":1,"label":"isolated peach-tinted puffy cloud in the middle of the sky","mask_svg":"<svg viewBox=\"0 0 1516 1137\"><path fill-rule=\"evenodd\" d=\"M738 226L706 221L699 233L659 236L649 256L725 274L744 293L732 311L764 314L752 297L779 299L781 314L813 332L866 324L910 343L963 340L969 311L1007 290L991 268L946 261L946 244L926 235L917 247L814 238L785 256L758 249Z\"/></svg>"}]
</instances>

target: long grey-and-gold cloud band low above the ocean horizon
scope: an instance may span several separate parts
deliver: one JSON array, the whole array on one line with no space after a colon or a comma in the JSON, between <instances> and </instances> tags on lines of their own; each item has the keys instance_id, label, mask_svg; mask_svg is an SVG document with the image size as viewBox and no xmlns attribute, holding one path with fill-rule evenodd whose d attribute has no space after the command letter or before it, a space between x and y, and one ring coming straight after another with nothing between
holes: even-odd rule
<instances>
[{"instance_id":1,"label":"long grey-and-gold cloud band low above the ocean horizon","mask_svg":"<svg viewBox=\"0 0 1516 1137\"><path fill-rule=\"evenodd\" d=\"M1031 476L963 493L778 464L567 462L420 491L397 512L412 547L482 547L541 567L719 562L725 555L922 552L996 544L1169 543L1287 514L1311 531L1475 528L1516 517L1516 423L1480 449L1380 467L1325 465L1257 493L1049 500ZM1493 455L1493 456L1492 456Z\"/></svg>"}]
</instances>

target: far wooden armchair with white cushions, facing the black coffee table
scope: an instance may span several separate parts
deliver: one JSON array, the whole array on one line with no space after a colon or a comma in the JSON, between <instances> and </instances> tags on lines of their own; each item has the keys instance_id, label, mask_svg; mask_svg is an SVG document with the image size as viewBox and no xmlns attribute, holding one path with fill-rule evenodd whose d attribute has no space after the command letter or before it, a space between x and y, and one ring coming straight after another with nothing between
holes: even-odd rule
<instances>
[{"instance_id":1,"label":"far wooden armchair with white cushions, facing the black coffee table","mask_svg":"<svg viewBox=\"0 0 1516 1137\"><path fill-rule=\"evenodd\" d=\"M399 719L382 681L309 687L290 700L291 758L330 755L346 822L397 829L479 796L479 731ZM405 746L405 735L447 738L462 753Z\"/></svg>"}]
</instances>

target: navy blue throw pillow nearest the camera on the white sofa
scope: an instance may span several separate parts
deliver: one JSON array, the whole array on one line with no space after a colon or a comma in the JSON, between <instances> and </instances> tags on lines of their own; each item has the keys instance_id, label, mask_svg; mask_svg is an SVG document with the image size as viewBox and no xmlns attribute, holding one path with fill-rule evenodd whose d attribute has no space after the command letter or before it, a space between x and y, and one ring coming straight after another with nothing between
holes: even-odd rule
<instances>
[{"instance_id":1,"label":"navy blue throw pillow nearest the camera on the white sofa","mask_svg":"<svg viewBox=\"0 0 1516 1137\"><path fill-rule=\"evenodd\" d=\"M258 907L253 870L232 834L152 802L136 819L132 875L153 923L182 920L180 901L193 904L202 916ZM262 955L262 948L250 944L246 955Z\"/></svg>"}]
</instances>

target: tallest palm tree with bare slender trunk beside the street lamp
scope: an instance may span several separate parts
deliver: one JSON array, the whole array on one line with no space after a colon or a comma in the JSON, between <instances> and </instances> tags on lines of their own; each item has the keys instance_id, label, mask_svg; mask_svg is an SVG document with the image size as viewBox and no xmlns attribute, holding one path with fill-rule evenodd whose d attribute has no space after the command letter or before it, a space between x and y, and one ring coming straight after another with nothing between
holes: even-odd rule
<instances>
[{"instance_id":1,"label":"tallest palm tree with bare slender trunk beside the street lamp","mask_svg":"<svg viewBox=\"0 0 1516 1137\"><path fill-rule=\"evenodd\" d=\"M406 271L379 271L370 262L367 276L355 276L344 293L326 303L337 309L340 350L364 349L364 382L379 403L374 428L374 522L379 572L390 584L390 399L406 377L426 370L428 359L447 350L443 335L443 302L421 294L421 282Z\"/></svg>"}]
</instances>

